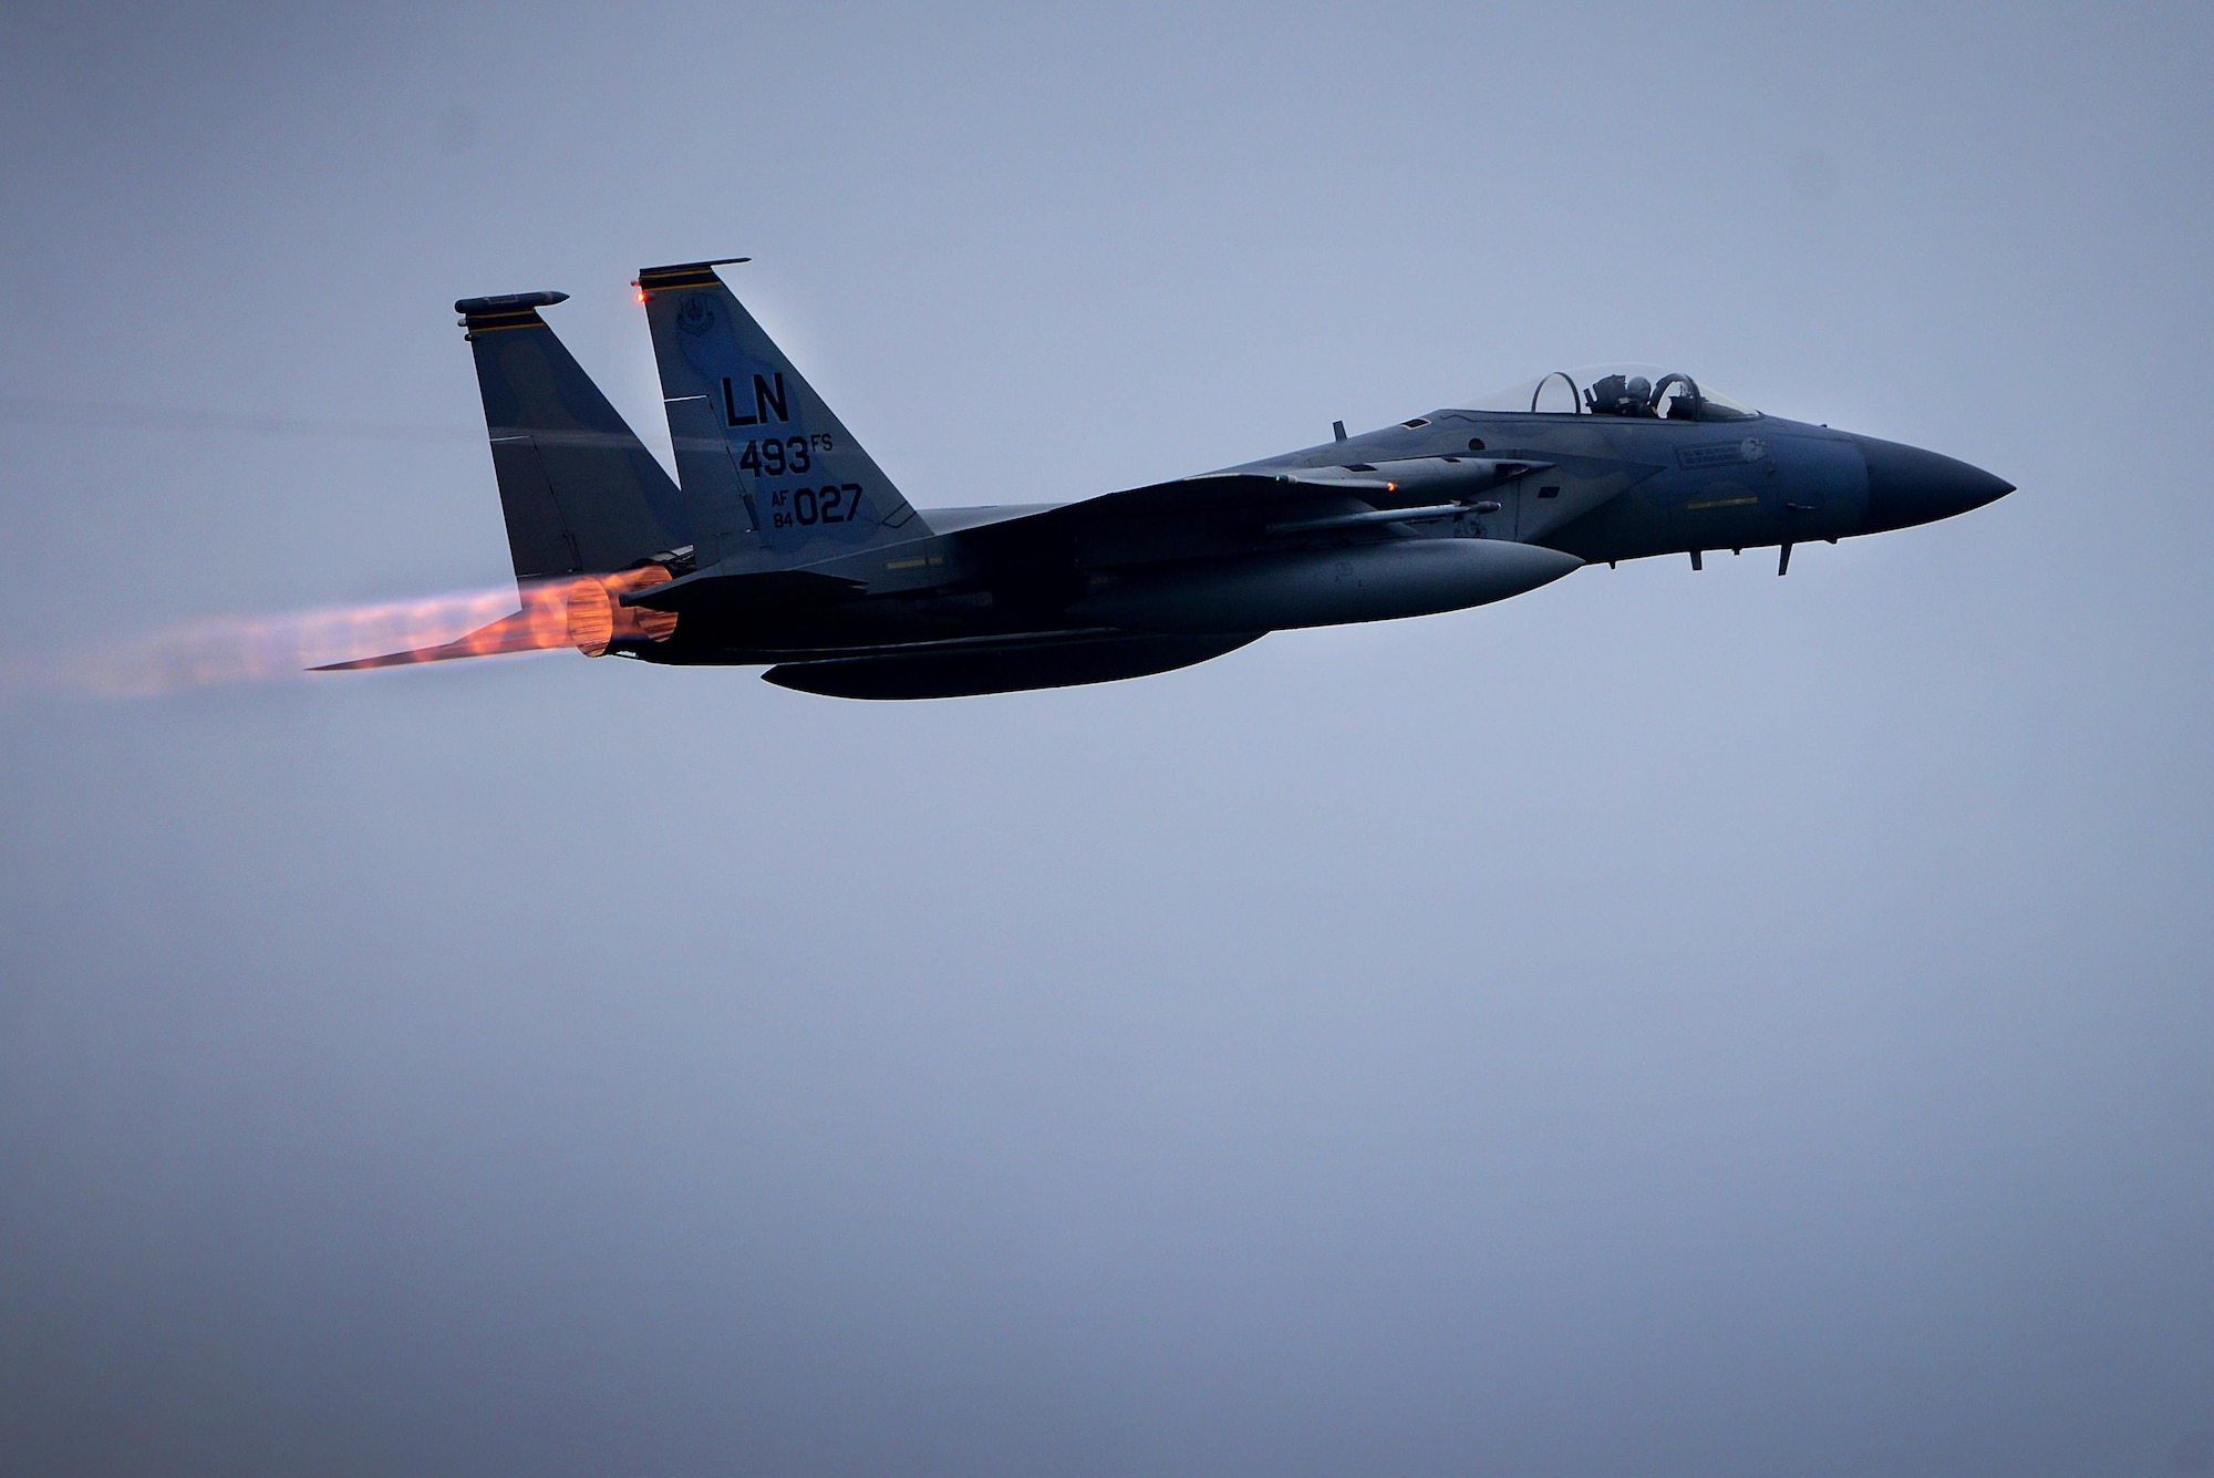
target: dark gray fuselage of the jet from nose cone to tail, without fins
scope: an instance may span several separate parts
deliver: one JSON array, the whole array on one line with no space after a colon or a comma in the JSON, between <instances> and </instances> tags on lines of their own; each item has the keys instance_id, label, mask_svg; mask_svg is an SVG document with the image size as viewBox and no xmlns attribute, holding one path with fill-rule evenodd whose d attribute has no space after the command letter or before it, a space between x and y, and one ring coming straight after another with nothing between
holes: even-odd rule
<instances>
[{"instance_id":1,"label":"dark gray fuselage of the jet from nose cone to tail, without fins","mask_svg":"<svg viewBox=\"0 0 2214 1478\"><path fill-rule=\"evenodd\" d=\"M786 582L770 597L739 577L715 597L704 582L675 639L633 655L808 662L1085 633L1258 635L1483 604L1579 562L1835 542L2008 491L1953 458L1780 416L1441 409L1078 504L923 511L930 533L824 560L806 571L817 589Z\"/></svg>"}]
</instances>

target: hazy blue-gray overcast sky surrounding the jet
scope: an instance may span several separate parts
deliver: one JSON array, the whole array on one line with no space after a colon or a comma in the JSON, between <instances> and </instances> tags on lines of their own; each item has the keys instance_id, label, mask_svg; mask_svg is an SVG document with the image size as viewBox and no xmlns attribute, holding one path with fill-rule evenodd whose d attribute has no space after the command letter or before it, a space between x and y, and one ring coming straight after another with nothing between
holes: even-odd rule
<instances>
[{"instance_id":1,"label":"hazy blue-gray overcast sky surrounding the jet","mask_svg":"<svg viewBox=\"0 0 2214 1478\"><path fill-rule=\"evenodd\" d=\"M2214 22L1827 11L9 7L0 1465L2214 1471ZM664 447L739 252L925 507L1596 358L2021 491L1072 693L35 677L500 582L447 303Z\"/></svg>"}]
</instances>

